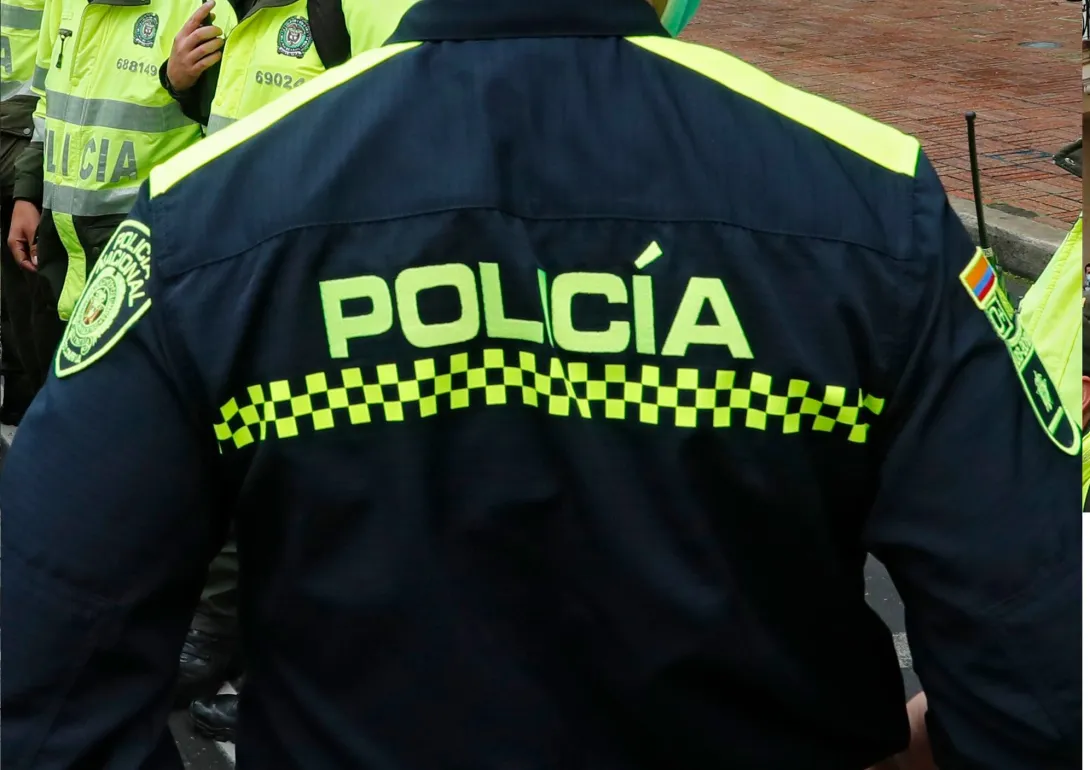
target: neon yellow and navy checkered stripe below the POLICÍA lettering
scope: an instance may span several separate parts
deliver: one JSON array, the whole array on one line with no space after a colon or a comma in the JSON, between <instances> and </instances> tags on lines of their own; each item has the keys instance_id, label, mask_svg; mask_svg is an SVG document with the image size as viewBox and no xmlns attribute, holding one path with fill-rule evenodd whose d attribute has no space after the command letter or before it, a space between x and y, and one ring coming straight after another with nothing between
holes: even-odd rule
<instances>
[{"instance_id":1,"label":"neon yellow and navy checkered stripe below the POLIC\u00cdA lettering","mask_svg":"<svg viewBox=\"0 0 1090 770\"><path fill-rule=\"evenodd\" d=\"M676 428L840 432L867 441L884 400L838 385L768 374L653 364L588 364L491 348L411 364L316 372L251 385L220 409L223 448L372 422L427 418L471 405L521 405L556 417L637 420Z\"/></svg>"}]
</instances>

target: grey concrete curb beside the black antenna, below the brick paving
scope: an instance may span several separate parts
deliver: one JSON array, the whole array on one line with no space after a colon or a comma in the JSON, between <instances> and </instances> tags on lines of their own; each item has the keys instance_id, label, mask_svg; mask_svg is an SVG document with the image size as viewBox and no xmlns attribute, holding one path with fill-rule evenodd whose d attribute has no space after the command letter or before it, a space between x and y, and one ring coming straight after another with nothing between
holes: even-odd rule
<instances>
[{"instance_id":1,"label":"grey concrete curb beside the black antenna, below the brick paving","mask_svg":"<svg viewBox=\"0 0 1090 770\"><path fill-rule=\"evenodd\" d=\"M972 201L952 197L950 205L972 234L972 240L978 241L977 208ZM984 206L984 220L988 222L988 238L992 249L995 250L995 258L1000 266L1030 280L1041 275L1049 260L1067 237L1067 230L1007 214L991 206Z\"/></svg>"}]
</instances>

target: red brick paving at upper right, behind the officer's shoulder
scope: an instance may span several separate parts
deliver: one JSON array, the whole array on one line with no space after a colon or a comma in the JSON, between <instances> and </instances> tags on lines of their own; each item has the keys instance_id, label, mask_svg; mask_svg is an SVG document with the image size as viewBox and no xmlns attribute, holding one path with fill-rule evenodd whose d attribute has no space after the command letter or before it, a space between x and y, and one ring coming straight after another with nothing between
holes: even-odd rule
<instances>
[{"instance_id":1,"label":"red brick paving at upper right, behind the officer's shoulder","mask_svg":"<svg viewBox=\"0 0 1090 770\"><path fill-rule=\"evenodd\" d=\"M952 196L972 197L964 116L976 110L985 203L1066 229L1081 184L1052 155L1082 131L1079 11L1066 0L704 0L685 37L918 136Z\"/></svg>"}]
</instances>

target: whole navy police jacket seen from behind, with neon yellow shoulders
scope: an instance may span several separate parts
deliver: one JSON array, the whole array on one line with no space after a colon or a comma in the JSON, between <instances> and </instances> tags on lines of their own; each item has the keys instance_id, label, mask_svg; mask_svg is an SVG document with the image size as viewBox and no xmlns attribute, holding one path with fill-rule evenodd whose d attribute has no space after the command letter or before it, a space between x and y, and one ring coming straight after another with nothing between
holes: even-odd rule
<instances>
[{"instance_id":1,"label":"whole navy police jacket seen from behind, with neon yellow shoulders","mask_svg":"<svg viewBox=\"0 0 1090 770\"><path fill-rule=\"evenodd\" d=\"M424 0L152 176L3 472L3 763L178 768L241 556L239 767L1079 755L1079 459L919 144L644 0Z\"/></svg>"}]
</instances>

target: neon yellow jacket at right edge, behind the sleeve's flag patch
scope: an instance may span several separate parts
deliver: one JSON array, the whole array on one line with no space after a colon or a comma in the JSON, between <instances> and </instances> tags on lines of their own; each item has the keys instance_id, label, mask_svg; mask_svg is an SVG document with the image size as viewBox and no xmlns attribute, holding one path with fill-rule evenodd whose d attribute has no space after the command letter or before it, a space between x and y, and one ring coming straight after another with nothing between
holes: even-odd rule
<instances>
[{"instance_id":1,"label":"neon yellow jacket at right edge, behind the sleeve's flag patch","mask_svg":"<svg viewBox=\"0 0 1090 770\"><path fill-rule=\"evenodd\" d=\"M1068 414L1082 414L1082 217L1018 309ZM1090 436L1082 436L1082 498L1090 491Z\"/></svg>"}]
</instances>

